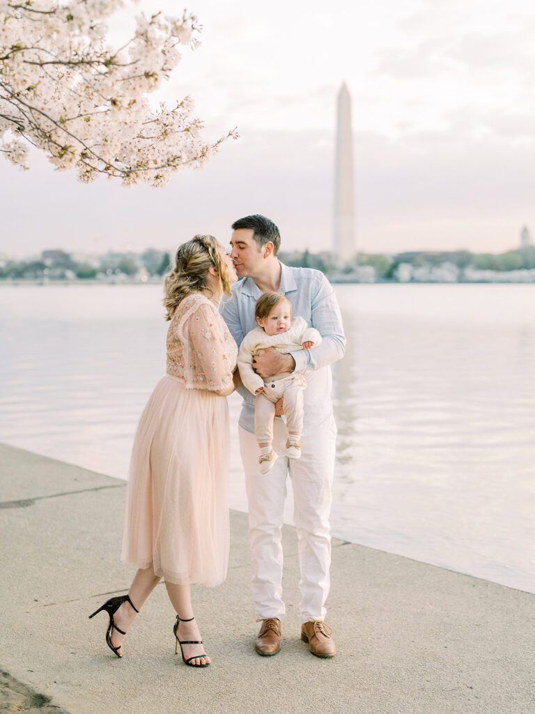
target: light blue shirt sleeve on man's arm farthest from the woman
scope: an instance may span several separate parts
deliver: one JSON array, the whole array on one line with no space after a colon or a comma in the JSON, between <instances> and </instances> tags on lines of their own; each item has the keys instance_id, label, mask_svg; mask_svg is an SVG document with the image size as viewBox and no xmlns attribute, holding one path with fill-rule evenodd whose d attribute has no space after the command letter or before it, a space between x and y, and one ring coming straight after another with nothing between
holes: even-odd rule
<instances>
[{"instance_id":1,"label":"light blue shirt sleeve on man's arm farthest from the woman","mask_svg":"<svg viewBox=\"0 0 535 714\"><path fill-rule=\"evenodd\" d=\"M326 367L342 359L345 353L346 340L340 307L332 285L323 275L312 295L311 308L312 327L322 336L322 343L312 350L290 353L295 360L295 374Z\"/></svg>"}]
</instances>

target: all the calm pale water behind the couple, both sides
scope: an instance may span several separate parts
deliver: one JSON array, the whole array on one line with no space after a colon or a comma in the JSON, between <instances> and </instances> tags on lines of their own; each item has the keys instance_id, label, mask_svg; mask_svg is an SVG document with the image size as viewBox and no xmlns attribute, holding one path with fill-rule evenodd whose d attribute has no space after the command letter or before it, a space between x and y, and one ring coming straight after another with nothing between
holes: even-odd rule
<instances>
[{"instance_id":1,"label":"all the calm pale water behind the couple, both sides","mask_svg":"<svg viewBox=\"0 0 535 714\"><path fill-rule=\"evenodd\" d=\"M535 592L535 286L337 286L332 509L355 543ZM2 286L0 441L125 478L159 286ZM230 398L230 501L247 508ZM291 522L291 500L287 521Z\"/></svg>"}]
</instances>

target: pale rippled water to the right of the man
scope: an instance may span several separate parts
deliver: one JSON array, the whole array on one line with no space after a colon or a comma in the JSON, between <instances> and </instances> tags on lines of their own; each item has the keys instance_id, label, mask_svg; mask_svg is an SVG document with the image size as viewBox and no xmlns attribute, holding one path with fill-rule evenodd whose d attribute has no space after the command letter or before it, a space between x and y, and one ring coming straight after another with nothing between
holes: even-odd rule
<instances>
[{"instance_id":1,"label":"pale rippled water to the right of the man","mask_svg":"<svg viewBox=\"0 0 535 714\"><path fill-rule=\"evenodd\" d=\"M506 309L498 286L456 287L339 289L337 476L352 486L333 522L360 543L533 591L531 287Z\"/></svg>"}]
</instances>

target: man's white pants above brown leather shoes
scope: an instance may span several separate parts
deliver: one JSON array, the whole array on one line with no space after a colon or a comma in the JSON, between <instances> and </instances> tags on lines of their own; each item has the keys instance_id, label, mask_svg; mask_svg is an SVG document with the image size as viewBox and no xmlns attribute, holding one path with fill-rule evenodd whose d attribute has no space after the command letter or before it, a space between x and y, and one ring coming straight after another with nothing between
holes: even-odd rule
<instances>
[{"instance_id":1,"label":"man's white pants above brown leather shoes","mask_svg":"<svg viewBox=\"0 0 535 714\"><path fill-rule=\"evenodd\" d=\"M286 425L281 418L275 418L272 446L278 458L271 471L262 475L258 471L256 437L239 428L249 502L253 600L259 618L283 620L285 615L281 530L290 471L301 573L301 618L302 622L325 619L325 600L330 588L329 515L336 431L335 419L330 416L314 433L302 436L301 458L288 459L284 454Z\"/></svg>"}]
</instances>

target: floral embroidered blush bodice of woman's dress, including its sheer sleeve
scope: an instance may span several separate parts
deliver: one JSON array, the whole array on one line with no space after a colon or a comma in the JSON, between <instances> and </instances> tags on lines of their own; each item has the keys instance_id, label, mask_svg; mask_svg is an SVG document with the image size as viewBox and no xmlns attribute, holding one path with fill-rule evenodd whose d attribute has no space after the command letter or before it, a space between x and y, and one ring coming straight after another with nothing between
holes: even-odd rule
<instances>
[{"instance_id":1,"label":"floral embroidered blush bodice of woman's dress, including its sheer sleeve","mask_svg":"<svg viewBox=\"0 0 535 714\"><path fill-rule=\"evenodd\" d=\"M213 303L200 293L183 299L167 333L167 373L190 389L228 386L238 347Z\"/></svg>"}]
</instances>

